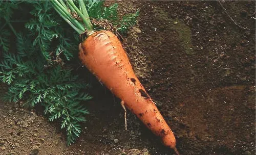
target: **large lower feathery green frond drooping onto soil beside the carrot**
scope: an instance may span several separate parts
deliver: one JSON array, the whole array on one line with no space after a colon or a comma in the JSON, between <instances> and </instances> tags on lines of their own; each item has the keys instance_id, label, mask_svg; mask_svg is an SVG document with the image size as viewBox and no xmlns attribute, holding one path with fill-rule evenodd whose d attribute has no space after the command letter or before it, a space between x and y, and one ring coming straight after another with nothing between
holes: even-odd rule
<instances>
[{"instance_id":1,"label":"large lower feathery green frond drooping onto soil beside the carrot","mask_svg":"<svg viewBox=\"0 0 256 155\"><path fill-rule=\"evenodd\" d=\"M18 54L4 53L0 64L0 79L10 85L6 100L17 102L26 100L25 105L34 107L36 104L45 106L45 114L49 120L61 121L61 128L67 130L67 142L71 144L81 132L79 122L88 111L80 104L91 99L84 91L88 84L80 80L72 69L65 68L48 61L35 49L32 41L18 35ZM31 59L33 58L33 59Z\"/></svg>"}]
</instances>

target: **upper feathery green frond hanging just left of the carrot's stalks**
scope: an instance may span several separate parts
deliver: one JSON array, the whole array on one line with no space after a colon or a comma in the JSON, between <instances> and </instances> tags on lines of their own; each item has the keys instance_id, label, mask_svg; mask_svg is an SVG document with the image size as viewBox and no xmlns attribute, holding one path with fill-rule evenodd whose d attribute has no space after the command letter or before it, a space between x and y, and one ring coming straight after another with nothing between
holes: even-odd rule
<instances>
[{"instance_id":1,"label":"upper feathery green frond hanging just left of the carrot's stalks","mask_svg":"<svg viewBox=\"0 0 256 155\"><path fill-rule=\"evenodd\" d=\"M73 55L69 49L74 48L78 44L77 39L71 41L69 36L65 36L65 30L70 31L66 23L61 22L59 16L56 16L56 12L53 10L49 1L30 1L34 9L31 10L31 15L35 18L31 18L29 22L25 24L25 27L30 30L31 36L34 37L33 45L40 47L41 53L49 60L49 51L55 51L58 55L62 52L67 60L70 60ZM61 26L60 26L61 25ZM67 28L67 29L65 29ZM71 36L74 37L74 32L71 31ZM72 35L73 34L73 35ZM67 34L66 34L67 35ZM58 38L59 44L54 49L52 46L52 40Z\"/></svg>"}]
</instances>

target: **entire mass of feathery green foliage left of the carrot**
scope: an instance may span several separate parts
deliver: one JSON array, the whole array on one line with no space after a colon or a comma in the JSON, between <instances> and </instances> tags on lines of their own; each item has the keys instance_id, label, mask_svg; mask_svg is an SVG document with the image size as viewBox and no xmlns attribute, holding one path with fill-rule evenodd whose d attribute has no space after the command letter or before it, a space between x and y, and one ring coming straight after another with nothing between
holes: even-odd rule
<instances>
[{"instance_id":1,"label":"entire mass of feathery green foliage left of the carrot","mask_svg":"<svg viewBox=\"0 0 256 155\"><path fill-rule=\"evenodd\" d=\"M81 101L92 98L85 93L88 84L69 67L79 39L48 1L19 2L31 8L31 17L23 20L16 38L10 39L13 32L5 23L12 24L11 19L18 21L18 11L14 11L18 7L11 7L14 3L0 2L0 12L8 14L0 17L6 21L0 23L0 79L10 85L5 99L24 100L29 107L44 105L50 121L61 121L70 145L81 132L79 122L86 121L85 115L89 113ZM9 51L13 40L16 51Z\"/></svg>"}]
</instances>

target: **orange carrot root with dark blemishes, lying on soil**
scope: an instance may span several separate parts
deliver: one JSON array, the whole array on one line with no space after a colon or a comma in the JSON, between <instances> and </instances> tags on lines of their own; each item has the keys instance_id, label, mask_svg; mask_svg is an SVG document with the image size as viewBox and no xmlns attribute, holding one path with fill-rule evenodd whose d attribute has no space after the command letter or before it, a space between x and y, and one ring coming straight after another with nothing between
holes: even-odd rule
<instances>
[{"instance_id":1,"label":"orange carrot root with dark blemishes, lying on soil","mask_svg":"<svg viewBox=\"0 0 256 155\"><path fill-rule=\"evenodd\" d=\"M93 33L79 44L79 58L165 146L178 153L172 130L136 77L116 35L105 30Z\"/></svg>"}]
</instances>

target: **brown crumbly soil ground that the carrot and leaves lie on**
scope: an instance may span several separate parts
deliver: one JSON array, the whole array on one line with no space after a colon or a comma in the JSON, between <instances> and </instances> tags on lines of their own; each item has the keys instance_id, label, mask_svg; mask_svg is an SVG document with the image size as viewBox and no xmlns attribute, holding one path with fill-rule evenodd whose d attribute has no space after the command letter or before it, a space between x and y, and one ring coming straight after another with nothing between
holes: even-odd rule
<instances>
[{"instance_id":1,"label":"brown crumbly soil ground that the carrot and leaves lie on","mask_svg":"<svg viewBox=\"0 0 256 155\"><path fill-rule=\"evenodd\" d=\"M113 2L108 2L113 3ZM255 154L255 1L118 1L140 11L123 36L181 154ZM75 144L40 111L0 101L0 154L174 154L95 79ZM1 88L1 97L7 90Z\"/></svg>"}]
</instances>

